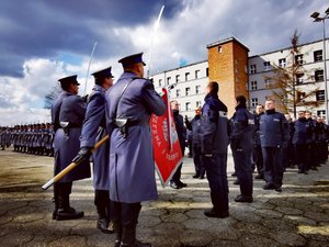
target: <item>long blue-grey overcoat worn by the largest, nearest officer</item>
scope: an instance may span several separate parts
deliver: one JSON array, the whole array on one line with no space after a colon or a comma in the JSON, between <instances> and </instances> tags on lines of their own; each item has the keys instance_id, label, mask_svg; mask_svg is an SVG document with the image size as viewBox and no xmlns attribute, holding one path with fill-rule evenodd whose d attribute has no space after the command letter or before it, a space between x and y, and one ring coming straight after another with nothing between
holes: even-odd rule
<instances>
[{"instance_id":1,"label":"long blue-grey overcoat worn by the largest, nearest officer","mask_svg":"<svg viewBox=\"0 0 329 247\"><path fill-rule=\"evenodd\" d=\"M118 102L125 85L129 86ZM109 89L106 100L106 128L110 143L110 198L116 202L135 203L158 198L155 160L149 120L151 114L162 115L166 104L152 83L124 72ZM118 102L118 104L117 104ZM117 105L117 112L115 111ZM126 138L115 126L116 116L139 121L129 126Z\"/></svg>"}]
</instances>

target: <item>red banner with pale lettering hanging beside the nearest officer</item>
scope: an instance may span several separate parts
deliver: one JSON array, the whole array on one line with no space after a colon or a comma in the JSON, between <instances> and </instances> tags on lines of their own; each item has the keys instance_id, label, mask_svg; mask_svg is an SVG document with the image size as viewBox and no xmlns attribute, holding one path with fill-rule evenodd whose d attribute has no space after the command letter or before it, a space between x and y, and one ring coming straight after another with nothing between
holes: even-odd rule
<instances>
[{"instance_id":1,"label":"red banner with pale lettering hanging beside the nearest officer","mask_svg":"<svg viewBox=\"0 0 329 247\"><path fill-rule=\"evenodd\" d=\"M179 165L183 161L180 142L175 131L173 114L169 105L168 93L162 89L167 112L162 116L152 115L150 126L154 139L154 153L157 172L164 187Z\"/></svg>"}]
</instances>

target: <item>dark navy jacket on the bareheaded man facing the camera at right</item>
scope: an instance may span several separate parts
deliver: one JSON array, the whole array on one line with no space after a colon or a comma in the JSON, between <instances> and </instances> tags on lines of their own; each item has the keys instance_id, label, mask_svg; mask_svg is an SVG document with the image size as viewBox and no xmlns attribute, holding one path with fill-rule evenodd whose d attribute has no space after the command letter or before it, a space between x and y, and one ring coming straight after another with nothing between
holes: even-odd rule
<instances>
[{"instance_id":1,"label":"dark navy jacket on the bareheaded man facing the camera at right","mask_svg":"<svg viewBox=\"0 0 329 247\"><path fill-rule=\"evenodd\" d=\"M268 110L260 119L260 139L262 147L283 147L288 143L288 123L285 116Z\"/></svg>"}]
</instances>

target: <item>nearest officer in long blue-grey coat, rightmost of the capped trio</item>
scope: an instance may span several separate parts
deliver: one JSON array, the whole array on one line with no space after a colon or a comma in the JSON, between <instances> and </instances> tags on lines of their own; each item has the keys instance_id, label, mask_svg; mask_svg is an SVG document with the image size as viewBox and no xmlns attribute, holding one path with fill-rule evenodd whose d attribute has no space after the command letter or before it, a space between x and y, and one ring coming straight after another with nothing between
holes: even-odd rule
<instances>
[{"instance_id":1,"label":"nearest officer in long blue-grey coat, rightmost of the capped trio","mask_svg":"<svg viewBox=\"0 0 329 247\"><path fill-rule=\"evenodd\" d=\"M155 178L151 114L162 115L166 104L144 77L143 53L118 61L124 72L109 89L106 128L110 143L110 199L115 246L144 246L136 239L140 202L158 198Z\"/></svg>"}]
</instances>

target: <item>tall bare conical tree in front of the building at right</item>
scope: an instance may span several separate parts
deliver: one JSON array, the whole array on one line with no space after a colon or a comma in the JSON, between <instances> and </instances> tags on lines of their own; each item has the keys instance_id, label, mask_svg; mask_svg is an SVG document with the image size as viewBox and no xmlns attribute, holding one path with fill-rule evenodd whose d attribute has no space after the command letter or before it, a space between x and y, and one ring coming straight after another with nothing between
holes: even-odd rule
<instances>
[{"instance_id":1,"label":"tall bare conical tree in front of the building at right","mask_svg":"<svg viewBox=\"0 0 329 247\"><path fill-rule=\"evenodd\" d=\"M306 69L303 67L303 54L298 44L299 34L294 32L291 37L292 47L290 55L286 57L286 67L273 65L273 76L265 76L265 79L273 81L269 86L272 89L272 97L281 102L281 110L284 113L293 112L296 119L296 108L305 106L308 110L319 106L322 102L311 100L318 88L310 89L303 86L305 81L313 80Z\"/></svg>"}]
</instances>

